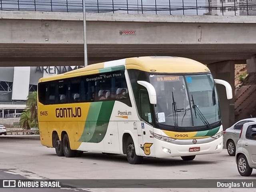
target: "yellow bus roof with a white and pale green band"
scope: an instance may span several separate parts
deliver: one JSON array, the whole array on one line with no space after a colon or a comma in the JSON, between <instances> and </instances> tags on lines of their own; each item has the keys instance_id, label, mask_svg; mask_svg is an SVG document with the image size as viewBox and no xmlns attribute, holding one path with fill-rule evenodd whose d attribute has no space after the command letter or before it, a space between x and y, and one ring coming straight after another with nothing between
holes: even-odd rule
<instances>
[{"instance_id":1,"label":"yellow bus roof with a white and pale green band","mask_svg":"<svg viewBox=\"0 0 256 192\"><path fill-rule=\"evenodd\" d=\"M126 59L106 61L103 63L95 63L68 71L63 74L53 75L41 78L39 81L51 81L68 77L76 77L80 75L91 75L118 69L138 69L146 72L154 73L203 73L210 72L206 65L184 57L131 57Z\"/></svg>"}]
</instances>

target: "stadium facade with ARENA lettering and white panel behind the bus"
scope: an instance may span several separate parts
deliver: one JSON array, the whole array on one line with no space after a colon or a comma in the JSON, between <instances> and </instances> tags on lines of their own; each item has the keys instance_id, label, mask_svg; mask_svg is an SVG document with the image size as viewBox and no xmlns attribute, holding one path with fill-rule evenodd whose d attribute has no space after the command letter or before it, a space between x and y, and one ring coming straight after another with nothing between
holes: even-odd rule
<instances>
[{"instance_id":1,"label":"stadium facade with ARENA lettering and white panel behind the bus","mask_svg":"<svg viewBox=\"0 0 256 192\"><path fill-rule=\"evenodd\" d=\"M37 91L41 77L56 75L82 66L0 67L0 119L19 117L29 93Z\"/></svg>"}]
</instances>

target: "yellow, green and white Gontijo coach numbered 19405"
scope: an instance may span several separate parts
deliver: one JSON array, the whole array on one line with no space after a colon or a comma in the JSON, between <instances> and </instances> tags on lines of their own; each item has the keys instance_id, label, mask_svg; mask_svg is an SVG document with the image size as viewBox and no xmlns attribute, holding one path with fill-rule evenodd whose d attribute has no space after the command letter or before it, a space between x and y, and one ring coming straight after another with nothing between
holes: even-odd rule
<instances>
[{"instance_id":1,"label":"yellow, green and white Gontijo coach numbered 19405","mask_svg":"<svg viewBox=\"0 0 256 192\"><path fill-rule=\"evenodd\" d=\"M41 144L58 156L83 152L143 157L219 153L223 128L206 65L182 57L134 57L96 63L38 82Z\"/></svg>"}]
</instances>

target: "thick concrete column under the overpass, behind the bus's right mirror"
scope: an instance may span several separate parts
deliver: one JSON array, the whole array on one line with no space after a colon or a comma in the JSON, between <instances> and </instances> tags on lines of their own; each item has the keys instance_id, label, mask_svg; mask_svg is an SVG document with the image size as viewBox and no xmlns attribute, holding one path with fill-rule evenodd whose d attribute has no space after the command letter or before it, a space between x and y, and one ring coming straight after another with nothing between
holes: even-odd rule
<instances>
[{"instance_id":1,"label":"thick concrete column under the overpass, behind the bus's right mirror","mask_svg":"<svg viewBox=\"0 0 256 192\"><path fill-rule=\"evenodd\" d=\"M235 106L234 106L234 89L235 89L235 61L222 61L207 65L212 72L214 79L222 79L228 81L232 87L233 99L228 100L226 97L226 89L223 85L216 84L219 99L220 113L223 129L227 129L235 122Z\"/></svg>"}]
</instances>

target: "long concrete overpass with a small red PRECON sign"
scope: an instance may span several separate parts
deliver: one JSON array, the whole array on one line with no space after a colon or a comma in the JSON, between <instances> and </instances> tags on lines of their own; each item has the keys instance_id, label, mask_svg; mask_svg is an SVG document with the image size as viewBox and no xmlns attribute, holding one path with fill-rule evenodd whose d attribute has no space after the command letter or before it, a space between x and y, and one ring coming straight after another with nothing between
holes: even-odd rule
<instances>
[{"instance_id":1,"label":"long concrete overpass with a small red PRECON sign","mask_svg":"<svg viewBox=\"0 0 256 192\"><path fill-rule=\"evenodd\" d=\"M256 16L90 13L88 58L174 55L245 63L256 53L255 31ZM0 11L0 34L0 66L84 65L82 13Z\"/></svg>"}]
</instances>

